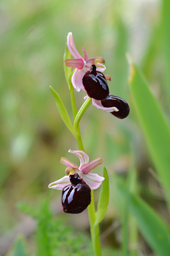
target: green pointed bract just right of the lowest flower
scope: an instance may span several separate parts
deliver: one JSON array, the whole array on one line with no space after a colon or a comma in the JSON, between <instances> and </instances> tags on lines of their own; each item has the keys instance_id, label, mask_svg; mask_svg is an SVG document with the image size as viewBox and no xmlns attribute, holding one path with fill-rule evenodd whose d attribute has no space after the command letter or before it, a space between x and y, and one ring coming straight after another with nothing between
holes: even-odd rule
<instances>
[{"instance_id":1,"label":"green pointed bract just right of the lowest flower","mask_svg":"<svg viewBox=\"0 0 170 256\"><path fill-rule=\"evenodd\" d=\"M107 212L107 206L109 202L109 179L108 179L108 173L105 167L103 167L103 175L105 180L102 182L102 185L101 185L99 202L97 205L96 220L95 220L94 226L98 225L101 222L101 220L103 220Z\"/></svg>"}]
</instances>

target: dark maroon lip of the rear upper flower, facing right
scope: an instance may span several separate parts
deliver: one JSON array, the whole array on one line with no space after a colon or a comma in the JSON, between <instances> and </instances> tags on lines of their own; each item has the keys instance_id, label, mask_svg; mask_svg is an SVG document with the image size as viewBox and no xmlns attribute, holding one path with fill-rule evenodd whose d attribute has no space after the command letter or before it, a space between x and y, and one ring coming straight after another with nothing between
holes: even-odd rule
<instances>
[{"instance_id":1,"label":"dark maroon lip of the rear upper flower, facing right","mask_svg":"<svg viewBox=\"0 0 170 256\"><path fill-rule=\"evenodd\" d=\"M123 119L129 115L130 107L128 102L113 94L109 94L106 99L101 100L101 104L106 108L116 107L118 111L113 111L111 114L117 118Z\"/></svg>"}]
</instances>

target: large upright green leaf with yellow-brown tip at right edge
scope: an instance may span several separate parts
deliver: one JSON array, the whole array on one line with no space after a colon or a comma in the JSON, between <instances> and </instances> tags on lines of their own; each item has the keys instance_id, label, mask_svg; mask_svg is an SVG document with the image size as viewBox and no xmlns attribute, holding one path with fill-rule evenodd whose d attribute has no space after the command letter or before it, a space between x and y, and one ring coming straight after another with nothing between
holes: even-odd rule
<instances>
[{"instance_id":1,"label":"large upright green leaf with yellow-brown tip at right edge","mask_svg":"<svg viewBox=\"0 0 170 256\"><path fill-rule=\"evenodd\" d=\"M140 69L131 61L129 83L135 109L161 182L170 195L170 130L164 111Z\"/></svg>"}]
</instances>

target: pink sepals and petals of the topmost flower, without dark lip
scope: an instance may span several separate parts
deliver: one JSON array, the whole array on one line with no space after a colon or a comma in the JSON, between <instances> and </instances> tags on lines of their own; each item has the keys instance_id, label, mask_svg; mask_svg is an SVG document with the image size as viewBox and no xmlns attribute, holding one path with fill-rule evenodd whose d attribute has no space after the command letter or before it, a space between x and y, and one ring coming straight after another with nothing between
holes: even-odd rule
<instances>
[{"instance_id":1,"label":"pink sepals and petals of the topmost flower, without dark lip","mask_svg":"<svg viewBox=\"0 0 170 256\"><path fill-rule=\"evenodd\" d=\"M82 58L75 47L71 32L67 36L67 47L71 55L74 57L74 59L66 59L65 65L68 67L76 68L71 79L72 85L78 92L80 92L80 90L86 91L82 83L83 76L87 73L87 71L90 70L92 65L96 65L97 71L103 72L106 69L106 67L99 62L105 63L104 58L95 57L88 59L87 52L86 50L84 50L83 47L82 51L84 53L84 58Z\"/></svg>"}]
</instances>

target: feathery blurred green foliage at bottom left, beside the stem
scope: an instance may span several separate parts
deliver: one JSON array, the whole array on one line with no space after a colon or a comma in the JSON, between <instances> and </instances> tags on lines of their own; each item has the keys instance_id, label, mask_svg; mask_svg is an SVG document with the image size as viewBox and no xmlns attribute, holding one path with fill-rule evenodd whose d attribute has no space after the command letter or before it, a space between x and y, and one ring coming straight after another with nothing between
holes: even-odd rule
<instances>
[{"instance_id":1,"label":"feathery blurred green foliage at bottom left, beside the stem","mask_svg":"<svg viewBox=\"0 0 170 256\"><path fill-rule=\"evenodd\" d=\"M20 203L19 208L27 214L29 212L38 222L35 235L37 256L92 255L90 238L84 233L75 232L73 228L65 226L62 220L55 219L49 210L48 201L40 204L37 214L35 214L36 209L33 209L34 207L31 205ZM24 244L19 239L14 245L13 254L10 253L10 256L25 256L23 247ZM29 255L34 255L34 253L30 251Z\"/></svg>"}]
</instances>

